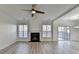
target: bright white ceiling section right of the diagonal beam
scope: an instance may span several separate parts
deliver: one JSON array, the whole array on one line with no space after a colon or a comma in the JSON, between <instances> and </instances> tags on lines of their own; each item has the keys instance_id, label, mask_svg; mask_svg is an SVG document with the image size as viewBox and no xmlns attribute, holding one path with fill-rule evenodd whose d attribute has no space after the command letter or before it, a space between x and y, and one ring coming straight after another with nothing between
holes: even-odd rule
<instances>
[{"instance_id":1,"label":"bright white ceiling section right of the diagonal beam","mask_svg":"<svg viewBox=\"0 0 79 59\"><path fill-rule=\"evenodd\" d=\"M62 20L79 20L79 5L76 6L69 13L61 17Z\"/></svg>"}]
</instances>

